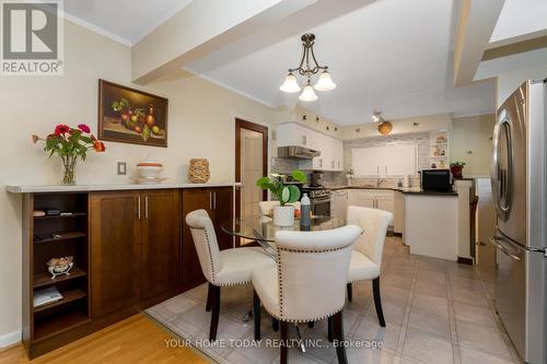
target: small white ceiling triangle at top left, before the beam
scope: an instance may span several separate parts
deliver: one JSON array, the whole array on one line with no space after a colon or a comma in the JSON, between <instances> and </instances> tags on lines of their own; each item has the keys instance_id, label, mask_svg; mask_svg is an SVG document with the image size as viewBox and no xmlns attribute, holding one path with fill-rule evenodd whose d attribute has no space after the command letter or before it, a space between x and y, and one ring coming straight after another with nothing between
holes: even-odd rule
<instances>
[{"instance_id":1,"label":"small white ceiling triangle at top left, before the beam","mask_svg":"<svg viewBox=\"0 0 547 364\"><path fill-rule=\"evenodd\" d=\"M67 17L133 45L193 0L65 0Z\"/></svg>"}]
</instances>

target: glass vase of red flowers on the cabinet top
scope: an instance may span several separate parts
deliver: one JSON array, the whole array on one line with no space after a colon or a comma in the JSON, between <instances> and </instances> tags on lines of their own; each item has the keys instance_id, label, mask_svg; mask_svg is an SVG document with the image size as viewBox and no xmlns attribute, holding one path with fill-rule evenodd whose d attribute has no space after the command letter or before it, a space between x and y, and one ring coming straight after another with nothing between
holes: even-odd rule
<instances>
[{"instance_id":1,"label":"glass vase of red flowers on the cabinet top","mask_svg":"<svg viewBox=\"0 0 547 364\"><path fill-rule=\"evenodd\" d=\"M44 141L44 151L49 156L57 154L61 157L63 175L62 184L75 185L75 165L78 160L85 161L89 150L104 152L105 146L91 133L90 127L80 124L78 128L70 128L66 125L55 127L55 132L45 139L38 136L32 136L33 142Z\"/></svg>"}]
</instances>

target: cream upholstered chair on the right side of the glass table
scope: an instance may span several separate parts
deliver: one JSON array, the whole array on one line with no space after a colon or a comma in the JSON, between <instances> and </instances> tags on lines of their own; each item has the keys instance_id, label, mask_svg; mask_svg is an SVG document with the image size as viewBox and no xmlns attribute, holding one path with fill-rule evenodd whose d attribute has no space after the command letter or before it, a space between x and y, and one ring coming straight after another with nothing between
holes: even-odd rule
<instances>
[{"instance_id":1,"label":"cream upholstered chair on the right side of the glass table","mask_svg":"<svg viewBox=\"0 0 547 364\"><path fill-rule=\"evenodd\" d=\"M351 262L349 266L348 300L352 300L352 283L372 280L374 306L380 326L385 327L382 301L380 297L380 270L382 254L384 251L387 225L393 220L393 214L387 211L359 208L348 208L348 224L356 224L363 228L363 234L357 239Z\"/></svg>"}]
</instances>

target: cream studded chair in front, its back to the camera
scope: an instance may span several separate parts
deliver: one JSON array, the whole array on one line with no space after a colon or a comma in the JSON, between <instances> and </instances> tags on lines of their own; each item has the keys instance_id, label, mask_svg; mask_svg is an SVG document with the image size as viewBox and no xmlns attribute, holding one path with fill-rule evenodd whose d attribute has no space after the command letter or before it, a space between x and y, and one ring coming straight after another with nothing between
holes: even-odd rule
<instances>
[{"instance_id":1,"label":"cream studded chair in front, its back to the camera","mask_svg":"<svg viewBox=\"0 0 547 364\"><path fill-rule=\"evenodd\" d=\"M288 361L288 322L333 317L338 363L347 363L342 309L353 242L361 227L276 234L277 267L253 273L255 340L260 340L260 303L281 329L281 364Z\"/></svg>"}]
</instances>

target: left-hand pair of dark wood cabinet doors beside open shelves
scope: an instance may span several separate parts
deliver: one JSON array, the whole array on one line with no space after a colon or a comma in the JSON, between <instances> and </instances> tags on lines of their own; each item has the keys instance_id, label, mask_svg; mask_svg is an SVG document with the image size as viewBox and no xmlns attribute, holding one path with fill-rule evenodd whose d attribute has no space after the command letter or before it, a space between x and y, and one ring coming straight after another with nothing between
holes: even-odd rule
<instances>
[{"instance_id":1,"label":"left-hand pair of dark wood cabinet doors beside open shelves","mask_svg":"<svg viewBox=\"0 0 547 364\"><path fill-rule=\"evenodd\" d=\"M92 318L175 289L181 192L90 193Z\"/></svg>"}]
</instances>

